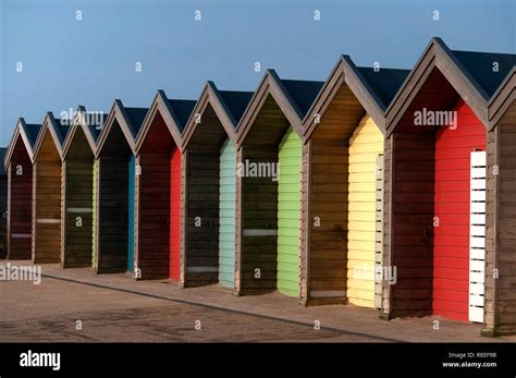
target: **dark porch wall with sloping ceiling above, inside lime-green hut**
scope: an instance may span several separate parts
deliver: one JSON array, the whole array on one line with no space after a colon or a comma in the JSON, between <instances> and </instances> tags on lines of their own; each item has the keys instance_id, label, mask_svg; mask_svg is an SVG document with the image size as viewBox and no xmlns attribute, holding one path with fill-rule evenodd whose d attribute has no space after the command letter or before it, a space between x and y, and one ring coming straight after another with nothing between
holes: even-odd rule
<instances>
[{"instance_id":1,"label":"dark porch wall with sloping ceiling above, inside lime-green hut","mask_svg":"<svg viewBox=\"0 0 516 378\"><path fill-rule=\"evenodd\" d=\"M277 164L278 146L288 126L269 95L239 150L238 161ZM278 280L278 181L238 178L237 198L237 290L241 294L273 291ZM254 230L270 234L256 235Z\"/></svg>"}]
</instances>

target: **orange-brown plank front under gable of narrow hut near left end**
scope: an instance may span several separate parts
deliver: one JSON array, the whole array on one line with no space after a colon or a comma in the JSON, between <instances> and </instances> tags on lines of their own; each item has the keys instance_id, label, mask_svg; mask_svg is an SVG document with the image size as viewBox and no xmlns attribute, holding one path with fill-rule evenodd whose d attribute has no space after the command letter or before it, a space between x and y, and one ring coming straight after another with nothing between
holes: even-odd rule
<instances>
[{"instance_id":1,"label":"orange-brown plank front under gable of narrow hut near left end","mask_svg":"<svg viewBox=\"0 0 516 378\"><path fill-rule=\"evenodd\" d=\"M61 157L48 131L34 170L33 263L60 263Z\"/></svg>"}]
</instances>

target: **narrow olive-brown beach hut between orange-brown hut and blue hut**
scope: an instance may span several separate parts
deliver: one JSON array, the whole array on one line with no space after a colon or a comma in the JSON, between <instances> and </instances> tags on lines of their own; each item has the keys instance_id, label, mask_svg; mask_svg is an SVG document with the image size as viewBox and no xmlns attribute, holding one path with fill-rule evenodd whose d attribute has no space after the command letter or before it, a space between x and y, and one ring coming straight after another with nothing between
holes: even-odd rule
<instances>
[{"instance_id":1,"label":"narrow olive-brown beach hut between orange-brown hut and blue hut","mask_svg":"<svg viewBox=\"0 0 516 378\"><path fill-rule=\"evenodd\" d=\"M90 267L93 264L95 151L105 121L105 113L87 112L79 106L63 144L61 172L63 268Z\"/></svg>"}]
</instances>

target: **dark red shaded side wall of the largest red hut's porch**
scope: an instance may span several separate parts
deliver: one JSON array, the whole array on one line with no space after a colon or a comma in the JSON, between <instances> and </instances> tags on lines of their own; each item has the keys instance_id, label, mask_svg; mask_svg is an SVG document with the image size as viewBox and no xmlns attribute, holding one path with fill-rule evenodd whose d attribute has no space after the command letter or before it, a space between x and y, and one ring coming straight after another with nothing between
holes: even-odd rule
<instances>
[{"instance_id":1,"label":"dark red shaded side wall of the largest red hut's porch","mask_svg":"<svg viewBox=\"0 0 516 378\"><path fill-rule=\"evenodd\" d=\"M431 133L394 133L392 166L391 316L432 312L434 144ZM391 174L390 164L385 176ZM390 193L385 193L389 198ZM385 219L389 219L386 214Z\"/></svg>"}]
</instances>

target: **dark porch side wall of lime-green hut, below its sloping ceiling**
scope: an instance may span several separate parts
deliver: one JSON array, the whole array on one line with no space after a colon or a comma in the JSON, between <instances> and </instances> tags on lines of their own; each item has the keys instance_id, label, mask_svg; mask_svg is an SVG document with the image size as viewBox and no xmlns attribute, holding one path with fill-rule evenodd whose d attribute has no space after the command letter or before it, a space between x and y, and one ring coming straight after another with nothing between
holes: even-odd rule
<instances>
[{"instance_id":1,"label":"dark porch side wall of lime-green hut, below its sloping ceiling","mask_svg":"<svg viewBox=\"0 0 516 378\"><path fill-rule=\"evenodd\" d=\"M278 145L244 145L241 159L275 164ZM272 291L278 280L278 235L250 235L246 230L278 230L278 181L244 175L241 185L241 291Z\"/></svg>"}]
</instances>

